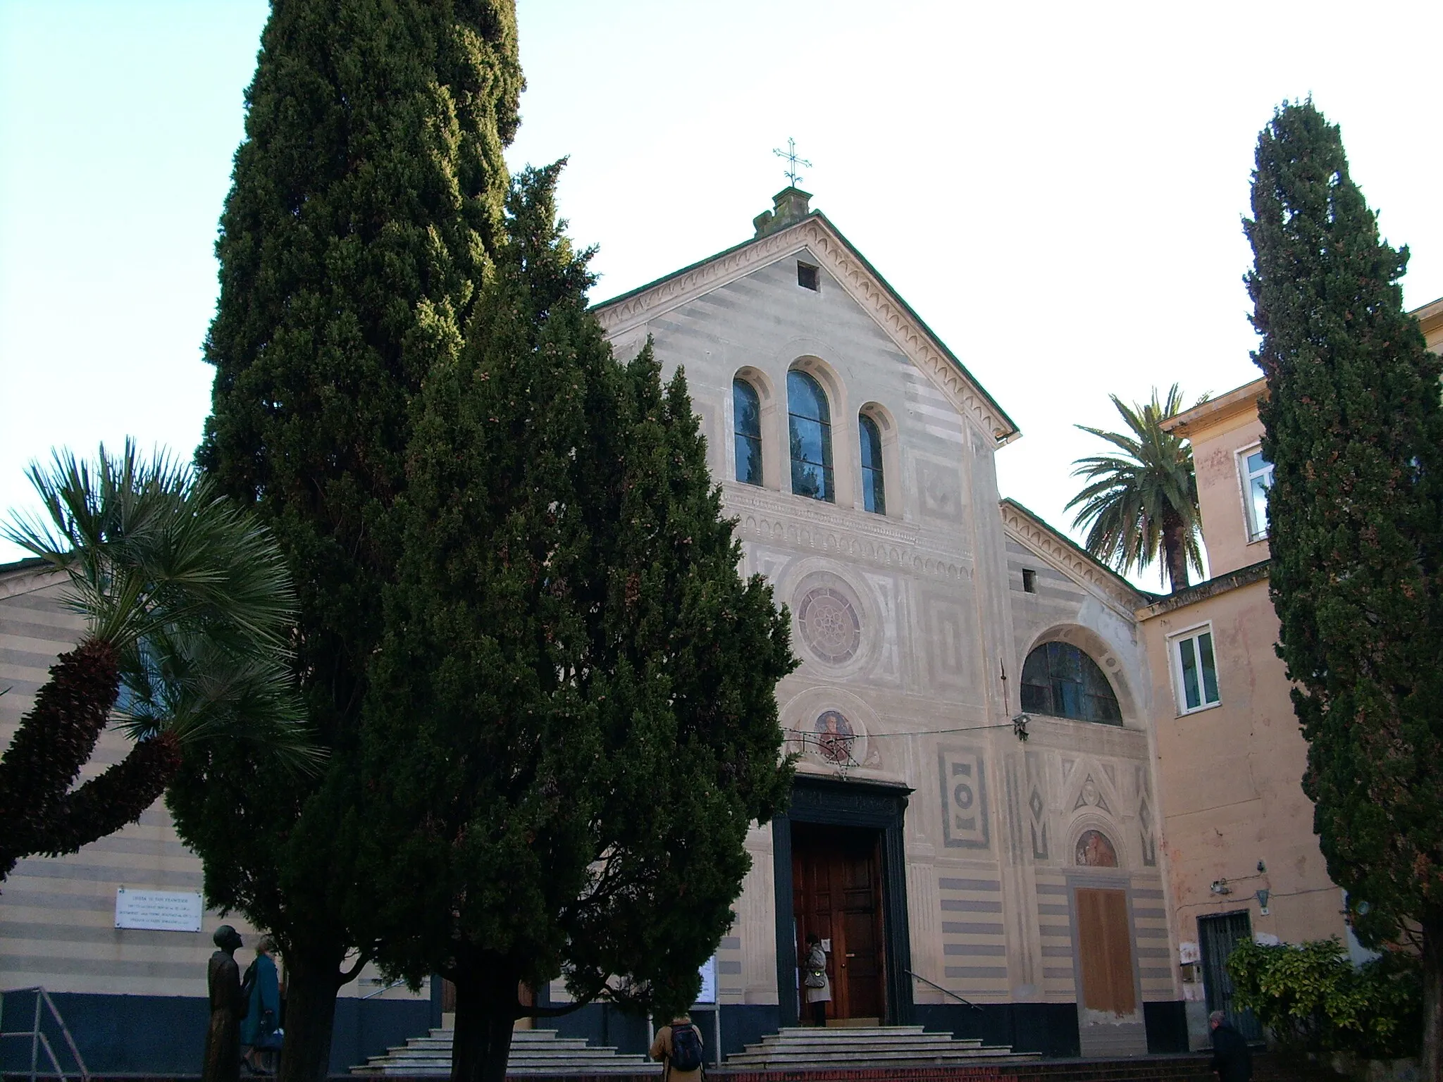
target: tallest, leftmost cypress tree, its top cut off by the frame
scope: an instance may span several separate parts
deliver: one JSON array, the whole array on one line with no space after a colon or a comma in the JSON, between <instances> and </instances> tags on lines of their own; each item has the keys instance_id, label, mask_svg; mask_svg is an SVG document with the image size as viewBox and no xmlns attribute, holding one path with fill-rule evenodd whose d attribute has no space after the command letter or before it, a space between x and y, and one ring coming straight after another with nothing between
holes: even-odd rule
<instances>
[{"instance_id":1,"label":"tallest, leftmost cypress tree, its top cut off by the frame","mask_svg":"<svg viewBox=\"0 0 1443 1082\"><path fill-rule=\"evenodd\" d=\"M325 1076L342 967L364 946L335 838L358 799L411 398L459 349L501 238L521 85L511 0L273 0L245 97L199 462L286 554L309 721L332 755L310 783L193 756L170 806L211 900L280 941L287 1082Z\"/></svg>"}]
</instances>

